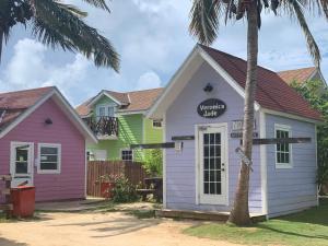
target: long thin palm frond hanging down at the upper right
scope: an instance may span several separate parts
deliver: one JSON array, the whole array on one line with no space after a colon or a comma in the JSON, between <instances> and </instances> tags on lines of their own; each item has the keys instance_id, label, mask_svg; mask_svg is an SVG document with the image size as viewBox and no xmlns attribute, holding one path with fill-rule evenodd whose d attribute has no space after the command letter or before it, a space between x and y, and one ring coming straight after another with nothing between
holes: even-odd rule
<instances>
[{"instance_id":1,"label":"long thin palm frond hanging down at the upper right","mask_svg":"<svg viewBox=\"0 0 328 246\"><path fill-rule=\"evenodd\" d=\"M303 34L306 39L307 49L314 60L314 63L317 68L320 68L320 61L321 61L320 50L319 50L319 47L318 47L314 36L312 35L312 33L308 28L302 5L300 4L300 2L297 0L289 0L289 2L291 4L291 9L293 11L292 13L294 13L294 16L296 17L296 20L303 31Z\"/></svg>"}]
</instances>

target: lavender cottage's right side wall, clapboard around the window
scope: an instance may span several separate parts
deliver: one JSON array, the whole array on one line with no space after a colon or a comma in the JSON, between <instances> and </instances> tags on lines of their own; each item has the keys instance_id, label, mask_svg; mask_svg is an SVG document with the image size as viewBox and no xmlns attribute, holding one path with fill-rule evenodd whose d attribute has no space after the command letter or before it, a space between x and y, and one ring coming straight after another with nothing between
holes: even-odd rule
<instances>
[{"instance_id":1,"label":"lavender cottage's right side wall, clapboard around the window","mask_svg":"<svg viewBox=\"0 0 328 246\"><path fill-rule=\"evenodd\" d=\"M292 168L276 168L276 147L267 147L268 213L291 213L317 204L315 125L273 115L266 116L267 137L274 124L291 126L292 137L309 137L311 143L292 144Z\"/></svg>"}]
</instances>

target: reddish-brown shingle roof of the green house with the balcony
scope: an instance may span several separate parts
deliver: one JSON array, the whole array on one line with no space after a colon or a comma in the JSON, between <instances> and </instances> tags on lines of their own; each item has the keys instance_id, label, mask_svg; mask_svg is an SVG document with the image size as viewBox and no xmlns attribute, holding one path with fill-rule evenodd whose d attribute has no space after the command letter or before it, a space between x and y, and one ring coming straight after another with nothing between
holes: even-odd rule
<instances>
[{"instance_id":1,"label":"reddish-brown shingle roof of the green house with the balcony","mask_svg":"<svg viewBox=\"0 0 328 246\"><path fill-rule=\"evenodd\" d=\"M149 109L155 102L155 99L160 96L160 94L163 92L163 89L159 87L134 92L105 92L124 105L122 108L119 109L119 112L140 112ZM94 98L95 97L87 99L86 102L84 102L75 108L80 116L85 117L91 113L89 104Z\"/></svg>"}]
</instances>

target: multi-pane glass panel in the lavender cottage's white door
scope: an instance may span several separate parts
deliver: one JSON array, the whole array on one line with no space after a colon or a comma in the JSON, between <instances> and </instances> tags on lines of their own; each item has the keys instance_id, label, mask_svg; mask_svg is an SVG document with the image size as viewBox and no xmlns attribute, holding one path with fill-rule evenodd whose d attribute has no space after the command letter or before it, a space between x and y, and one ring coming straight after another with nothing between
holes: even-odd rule
<instances>
[{"instance_id":1,"label":"multi-pane glass panel in the lavender cottage's white door","mask_svg":"<svg viewBox=\"0 0 328 246\"><path fill-rule=\"evenodd\" d=\"M203 133L203 192L221 195L221 133Z\"/></svg>"}]
</instances>

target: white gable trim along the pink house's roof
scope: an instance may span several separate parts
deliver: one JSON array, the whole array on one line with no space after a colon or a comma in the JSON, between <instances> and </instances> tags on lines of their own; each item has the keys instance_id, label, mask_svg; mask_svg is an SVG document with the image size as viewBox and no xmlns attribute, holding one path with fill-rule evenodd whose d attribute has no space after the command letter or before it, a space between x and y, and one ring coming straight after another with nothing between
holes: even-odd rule
<instances>
[{"instance_id":1,"label":"white gable trim along the pink house's roof","mask_svg":"<svg viewBox=\"0 0 328 246\"><path fill-rule=\"evenodd\" d=\"M52 89L48 94L42 97L36 104L27 108L23 114L21 114L12 124L10 124L2 132L0 132L0 139L8 134L12 129L14 129L20 122L26 119L33 112L35 112L39 106L42 106L46 101L51 96L58 98L58 102L61 103L59 106L63 106L63 110L68 113L70 119L74 122L75 127L79 128L80 132L85 137L86 140L97 143L97 139L91 129L83 122L74 108L69 104L69 102L62 96L57 87Z\"/></svg>"}]
</instances>

